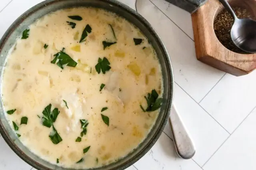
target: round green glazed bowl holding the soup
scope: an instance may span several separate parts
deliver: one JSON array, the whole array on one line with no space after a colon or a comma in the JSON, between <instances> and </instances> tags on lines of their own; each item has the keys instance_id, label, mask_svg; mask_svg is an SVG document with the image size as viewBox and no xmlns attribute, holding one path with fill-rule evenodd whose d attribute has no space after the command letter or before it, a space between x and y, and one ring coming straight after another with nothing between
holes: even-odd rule
<instances>
[{"instance_id":1,"label":"round green glazed bowl holding the soup","mask_svg":"<svg viewBox=\"0 0 256 170\"><path fill-rule=\"evenodd\" d=\"M173 73L170 58L164 47L164 44L160 40L156 31L152 26L142 17L136 13L130 7L116 1L116 0L46 0L30 8L24 14L22 14L6 31L2 39L0 40L0 70L1 79L0 85L2 84L2 75L4 65L6 63L6 57L9 50L16 43L16 38L22 34L22 31L35 22L38 18L54 12L56 10L73 7L96 7L103 8L110 12L114 12L123 18L126 18L129 22L137 26L141 32L148 38L154 47L160 65L162 67L163 76L163 98L164 103L160 109L159 115L156 119L156 123L150 130L148 136L137 146L136 149L132 150L130 154L124 158L120 158L118 161L108 164L106 166L94 168L94 170L123 170L128 166L131 166L138 161L154 143L158 140L162 130L164 129L168 117L170 116L170 110L173 101ZM2 96L2 92L0 89ZM17 99L20 100L20 99ZM2 101L2 100L1 100ZM50 164L49 162L41 159L39 156L32 153L26 146L20 142L16 134L12 130L6 114L4 113L4 107L1 102L0 107L0 133L2 134L6 143L12 148L12 150L20 156L24 161L33 166L38 170L72 170L68 168L62 168L58 165Z\"/></svg>"}]
</instances>

